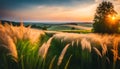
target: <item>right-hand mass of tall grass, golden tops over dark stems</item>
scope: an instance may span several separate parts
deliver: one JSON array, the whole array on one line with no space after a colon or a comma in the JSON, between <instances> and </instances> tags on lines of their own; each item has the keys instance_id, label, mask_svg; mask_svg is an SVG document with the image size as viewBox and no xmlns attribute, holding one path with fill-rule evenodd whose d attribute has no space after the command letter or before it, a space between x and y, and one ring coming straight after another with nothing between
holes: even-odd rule
<instances>
[{"instance_id":1,"label":"right-hand mass of tall grass, golden tops over dark stems","mask_svg":"<svg viewBox=\"0 0 120 69\"><path fill-rule=\"evenodd\" d=\"M48 49L45 69L48 69L54 56L52 69L119 69L119 44L119 34L55 34L49 49L43 46Z\"/></svg>"}]
</instances>

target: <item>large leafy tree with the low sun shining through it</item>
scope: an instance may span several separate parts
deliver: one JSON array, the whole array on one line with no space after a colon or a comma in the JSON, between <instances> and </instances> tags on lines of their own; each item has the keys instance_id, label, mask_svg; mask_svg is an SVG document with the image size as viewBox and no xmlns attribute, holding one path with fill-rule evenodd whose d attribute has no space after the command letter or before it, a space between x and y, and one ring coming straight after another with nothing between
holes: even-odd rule
<instances>
[{"instance_id":1,"label":"large leafy tree with the low sun shining through it","mask_svg":"<svg viewBox=\"0 0 120 69\"><path fill-rule=\"evenodd\" d=\"M118 33L119 22L115 18L117 12L109 1L103 1L96 9L93 23L95 33Z\"/></svg>"}]
</instances>

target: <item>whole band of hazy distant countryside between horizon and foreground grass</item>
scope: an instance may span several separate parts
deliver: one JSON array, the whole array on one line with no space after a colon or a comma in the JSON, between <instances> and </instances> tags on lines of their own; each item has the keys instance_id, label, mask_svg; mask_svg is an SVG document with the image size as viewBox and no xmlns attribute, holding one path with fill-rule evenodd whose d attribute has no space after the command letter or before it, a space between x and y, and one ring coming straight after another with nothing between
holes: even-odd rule
<instances>
[{"instance_id":1,"label":"whole band of hazy distant countryside between horizon and foreground grass","mask_svg":"<svg viewBox=\"0 0 120 69\"><path fill-rule=\"evenodd\" d=\"M12 22L12 21L1 21L2 24L4 23L12 23L14 26L19 26L20 22ZM91 30L92 23L88 22L81 22L81 23L34 23L34 22L25 22L24 25L28 27L29 25L31 28L41 29L41 30L48 30L48 31L60 31L60 30Z\"/></svg>"}]
</instances>

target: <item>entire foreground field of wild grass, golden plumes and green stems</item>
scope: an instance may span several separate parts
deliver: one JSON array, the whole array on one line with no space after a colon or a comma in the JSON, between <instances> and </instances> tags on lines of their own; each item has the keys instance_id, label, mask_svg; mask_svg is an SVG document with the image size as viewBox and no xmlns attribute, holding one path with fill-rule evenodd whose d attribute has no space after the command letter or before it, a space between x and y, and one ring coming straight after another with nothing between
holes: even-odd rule
<instances>
[{"instance_id":1,"label":"entire foreground field of wild grass, golden plumes and green stems","mask_svg":"<svg viewBox=\"0 0 120 69\"><path fill-rule=\"evenodd\" d=\"M119 34L48 34L0 24L0 69L120 69Z\"/></svg>"}]
</instances>

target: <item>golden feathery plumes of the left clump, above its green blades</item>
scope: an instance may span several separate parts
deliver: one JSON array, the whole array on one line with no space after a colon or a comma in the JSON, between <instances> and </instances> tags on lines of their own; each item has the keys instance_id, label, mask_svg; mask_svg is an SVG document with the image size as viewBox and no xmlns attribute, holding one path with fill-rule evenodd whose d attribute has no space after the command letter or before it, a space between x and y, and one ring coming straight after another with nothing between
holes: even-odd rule
<instances>
[{"instance_id":1,"label":"golden feathery plumes of the left clump, above its green blades","mask_svg":"<svg viewBox=\"0 0 120 69\"><path fill-rule=\"evenodd\" d=\"M0 51L4 51L18 58L16 43L18 40L30 40L31 43L38 42L40 37L45 35L41 30L31 29L30 27L24 27L21 23L20 26L12 26L8 23L2 25L0 23ZM4 48L4 49L3 49Z\"/></svg>"}]
</instances>

